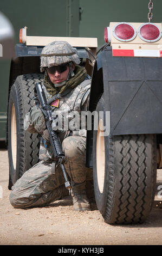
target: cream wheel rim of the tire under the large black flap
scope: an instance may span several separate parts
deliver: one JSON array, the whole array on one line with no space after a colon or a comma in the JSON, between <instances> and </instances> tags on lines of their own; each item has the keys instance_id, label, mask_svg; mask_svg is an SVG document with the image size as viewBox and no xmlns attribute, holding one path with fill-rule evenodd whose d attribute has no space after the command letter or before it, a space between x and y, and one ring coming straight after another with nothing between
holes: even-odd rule
<instances>
[{"instance_id":1,"label":"cream wheel rim of the tire under the large black flap","mask_svg":"<svg viewBox=\"0 0 162 256\"><path fill-rule=\"evenodd\" d=\"M96 167L98 186L100 193L103 192L105 180L105 140L103 136L103 120L100 119L98 125L97 142L96 142Z\"/></svg>"}]
</instances>

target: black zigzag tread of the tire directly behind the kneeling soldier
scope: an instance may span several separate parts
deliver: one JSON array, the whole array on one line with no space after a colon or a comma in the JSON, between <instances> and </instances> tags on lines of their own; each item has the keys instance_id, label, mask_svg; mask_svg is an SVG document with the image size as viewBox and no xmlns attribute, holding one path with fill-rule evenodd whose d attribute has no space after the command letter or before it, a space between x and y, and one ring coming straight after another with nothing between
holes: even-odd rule
<instances>
[{"instance_id":1,"label":"black zigzag tread of the tire directly behind the kneeling soldier","mask_svg":"<svg viewBox=\"0 0 162 256\"><path fill-rule=\"evenodd\" d=\"M39 153L40 139L37 133L31 134L24 131L24 117L33 107L34 100L34 87L36 82L42 82L44 75L42 74L25 74L18 76L13 85L16 90L18 99L18 117L19 117L19 127L20 127L20 164L18 170L18 178L21 178L23 173L29 168L36 164ZM11 156L9 156L11 157Z\"/></svg>"}]
</instances>

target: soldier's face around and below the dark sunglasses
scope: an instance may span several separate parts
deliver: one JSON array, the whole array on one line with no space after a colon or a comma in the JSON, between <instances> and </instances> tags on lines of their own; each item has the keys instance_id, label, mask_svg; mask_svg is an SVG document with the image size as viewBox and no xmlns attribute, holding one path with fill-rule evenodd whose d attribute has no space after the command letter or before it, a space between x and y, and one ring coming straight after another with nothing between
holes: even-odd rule
<instances>
[{"instance_id":1,"label":"soldier's face around and below the dark sunglasses","mask_svg":"<svg viewBox=\"0 0 162 256\"><path fill-rule=\"evenodd\" d=\"M73 70L75 68L75 65L73 64ZM65 70L64 72L60 72L59 70L55 70L54 71L54 74L51 74L51 72L48 71L47 69L47 72L48 72L48 76L50 78L50 81L54 84L57 84L57 83L61 83L61 82L64 82L67 80L68 78L68 74L69 74L69 66L67 66L67 70Z\"/></svg>"}]
</instances>

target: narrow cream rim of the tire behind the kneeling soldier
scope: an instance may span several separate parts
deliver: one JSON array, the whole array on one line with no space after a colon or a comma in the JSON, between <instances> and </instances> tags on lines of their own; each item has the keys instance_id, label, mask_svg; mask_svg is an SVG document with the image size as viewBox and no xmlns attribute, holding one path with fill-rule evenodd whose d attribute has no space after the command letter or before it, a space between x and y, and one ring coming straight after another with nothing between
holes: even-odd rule
<instances>
[{"instance_id":1,"label":"narrow cream rim of the tire behind the kneeling soldier","mask_svg":"<svg viewBox=\"0 0 162 256\"><path fill-rule=\"evenodd\" d=\"M12 105L11 112L11 152L12 152L12 162L14 169L16 169L16 155L17 155L17 131L16 131L16 112L15 105Z\"/></svg>"}]
</instances>

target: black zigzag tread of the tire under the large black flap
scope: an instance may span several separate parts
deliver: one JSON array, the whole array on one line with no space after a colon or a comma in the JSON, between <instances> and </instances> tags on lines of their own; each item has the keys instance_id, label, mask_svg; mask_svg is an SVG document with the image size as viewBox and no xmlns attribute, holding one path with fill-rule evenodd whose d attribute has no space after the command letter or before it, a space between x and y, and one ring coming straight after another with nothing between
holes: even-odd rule
<instances>
[{"instance_id":1,"label":"black zigzag tread of the tire under the large black flap","mask_svg":"<svg viewBox=\"0 0 162 256\"><path fill-rule=\"evenodd\" d=\"M152 166L149 170L148 141L150 138ZM114 145L117 152L114 152ZM122 135L114 136L113 139L109 138L108 169L111 173L109 175L111 193L108 195L106 211L103 214L106 222L142 223L146 220L154 200L157 163L155 149L154 135ZM112 186L116 183L114 168L118 169L118 192L116 192L116 185ZM149 180L150 172L151 181ZM152 184L151 188L150 184Z\"/></svg>"}]
</instances>

